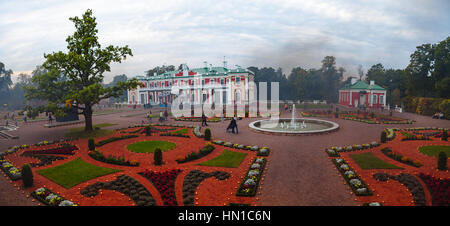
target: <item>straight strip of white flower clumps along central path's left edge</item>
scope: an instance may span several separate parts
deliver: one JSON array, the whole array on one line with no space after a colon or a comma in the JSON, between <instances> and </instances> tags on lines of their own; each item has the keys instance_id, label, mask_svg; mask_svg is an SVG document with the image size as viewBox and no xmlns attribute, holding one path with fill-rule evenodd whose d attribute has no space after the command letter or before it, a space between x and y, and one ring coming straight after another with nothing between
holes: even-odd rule
<instances>
[{"instance_id":1,"label":"straight strip of white flower clumps along central path's left edge","mask_svg":"<svg viewBox=\"0 0 450 226\"><path fill-rule=\"evenodd\" d=\"M236 196L255 196L258 191L264 168L266 166L267 159L263 157L257 157L250 165L241 185L239 186Z\"/></svg>"}]
</instances>

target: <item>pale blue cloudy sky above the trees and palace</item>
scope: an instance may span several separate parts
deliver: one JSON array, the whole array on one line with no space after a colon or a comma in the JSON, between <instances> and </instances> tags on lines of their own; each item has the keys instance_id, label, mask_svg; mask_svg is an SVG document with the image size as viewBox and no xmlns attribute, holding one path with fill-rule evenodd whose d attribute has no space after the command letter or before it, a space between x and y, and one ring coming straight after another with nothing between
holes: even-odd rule
<instances>
[{"instance_id":1,"label":"pale blue cloudy sky above the trees and palace","mask_svg":"<svg viewBox=\"0 0 450 226\"><path fill-rule=\"evenodd\" d=\"M318 68L335 56L345 76L405 68L416 46L450 36L448 0L0 0L0 62L19 73L67 52L70 17L97 18L102 47L128 45L133 57L113 63L114 75L143 75L160 65Z\"/></svg>"}]
</instances>

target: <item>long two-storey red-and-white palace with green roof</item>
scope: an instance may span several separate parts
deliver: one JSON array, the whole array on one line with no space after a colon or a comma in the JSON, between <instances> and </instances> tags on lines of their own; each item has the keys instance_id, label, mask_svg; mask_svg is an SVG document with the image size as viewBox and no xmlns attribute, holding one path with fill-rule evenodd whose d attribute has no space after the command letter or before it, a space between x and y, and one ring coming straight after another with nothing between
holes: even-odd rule
<instances>
[{"instance_id":1,"label":"long two-storey red-and-white palace with green roof","mask_svg":"<svg viewBox=\"0 0 450 226\"><path fill-rule=\"evenodd\" d=\"M136 78L142 86L128 90L128 104L171 104L179 95L193 104L212 102L210 97L220 104L247 104L254 73L237 65L229 69L224 61L223 67L208 67L205 62L205 67L189 69L183 64L182 70Z\"/></svg>"}]
</instances>

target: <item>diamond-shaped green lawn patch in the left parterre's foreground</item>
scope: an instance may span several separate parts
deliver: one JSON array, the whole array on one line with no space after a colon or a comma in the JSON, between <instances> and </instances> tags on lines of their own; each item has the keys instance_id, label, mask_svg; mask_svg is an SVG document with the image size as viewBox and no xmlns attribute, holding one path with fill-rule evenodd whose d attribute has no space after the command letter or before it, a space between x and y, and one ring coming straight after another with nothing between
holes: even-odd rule
<instances>
[{"instance_id":1,"label":"diamond-shaped green lawn patch in the left parterre's foreground","mask_svg":"<svg viewBox=\"0 0 450 226\"><path fill-rule=\"evenodd\" d=\"M65 188L71 188L85 181L119 171L121 170L92 165L78 158L59 166L38 170L37 173Z\"/></svg>"}]
</instances>

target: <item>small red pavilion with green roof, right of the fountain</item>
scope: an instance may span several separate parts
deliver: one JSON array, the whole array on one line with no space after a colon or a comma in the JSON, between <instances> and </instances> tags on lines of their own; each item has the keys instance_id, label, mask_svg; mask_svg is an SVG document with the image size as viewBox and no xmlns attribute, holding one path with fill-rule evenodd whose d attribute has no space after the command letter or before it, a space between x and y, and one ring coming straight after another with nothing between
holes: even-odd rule
<instances>
[{"instance_id":1,"label":"small red pavilion with green roof, right of the fountain","mask_svg":"<svg viewBox=\"0 0 450 226\"><path fill-rule=\"evenodd\" d=\"M339 90L339 104L349 107L365 106L367 108L384 108L386 106L386 89L352 78Z\"/></svg>"}]
</instances>

